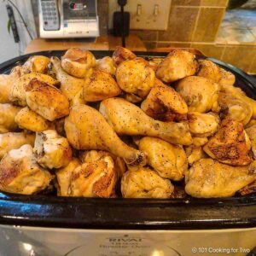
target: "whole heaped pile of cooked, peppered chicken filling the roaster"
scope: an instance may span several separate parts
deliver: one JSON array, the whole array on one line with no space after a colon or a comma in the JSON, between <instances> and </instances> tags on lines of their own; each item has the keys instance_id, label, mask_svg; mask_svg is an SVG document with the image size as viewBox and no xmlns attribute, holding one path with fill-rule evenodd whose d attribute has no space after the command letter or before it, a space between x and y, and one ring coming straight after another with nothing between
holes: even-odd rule
<instances>
[{"instance_id":1,"label":"whole heaped pile of cooked, peppered chicken filling the roaster","mask_svg":"<svg viewBox=\"0 0 256 256\"><path fill-rule=\"evenodd\" d=\"M256 102L183 49L68 49L0 75L0 189L125 198L256 191Z\"/></svg>"}]
</instances>

